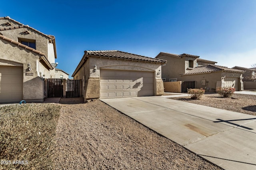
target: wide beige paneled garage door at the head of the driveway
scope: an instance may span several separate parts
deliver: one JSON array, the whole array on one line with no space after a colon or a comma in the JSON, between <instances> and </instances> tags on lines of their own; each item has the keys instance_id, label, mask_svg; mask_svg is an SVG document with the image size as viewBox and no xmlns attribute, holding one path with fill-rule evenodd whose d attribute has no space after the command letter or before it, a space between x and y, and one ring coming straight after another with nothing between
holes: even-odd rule
<instances>
[{"instance_id":1,"label":"wide beige paneled garage door at the head of the driveway","mask_svg":"<svg viewBox=\"0 0 256 170\"><path fill-rule=\"evenodd\" d=\"M154 72L100 70L100 98L154 95Z\"/></svg>"}]
</instances>

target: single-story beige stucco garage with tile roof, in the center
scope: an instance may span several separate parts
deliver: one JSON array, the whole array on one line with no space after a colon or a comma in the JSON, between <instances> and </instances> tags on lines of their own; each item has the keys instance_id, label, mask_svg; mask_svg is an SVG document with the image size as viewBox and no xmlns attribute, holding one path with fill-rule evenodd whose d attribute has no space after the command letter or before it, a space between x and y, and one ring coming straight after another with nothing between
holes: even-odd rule
<instances>
[{"instance_id":1,"label":"single-story beige stucco garage with tile roof, in the center","mask_svg":"<svg viewBox=\"0 0 256 170\"><path fill-rule=\"evenodd\" d=\"M82 79L85 100L162 95L165 63L117 50L84 51L72 77Z\"/></svg>"}]
</instances>

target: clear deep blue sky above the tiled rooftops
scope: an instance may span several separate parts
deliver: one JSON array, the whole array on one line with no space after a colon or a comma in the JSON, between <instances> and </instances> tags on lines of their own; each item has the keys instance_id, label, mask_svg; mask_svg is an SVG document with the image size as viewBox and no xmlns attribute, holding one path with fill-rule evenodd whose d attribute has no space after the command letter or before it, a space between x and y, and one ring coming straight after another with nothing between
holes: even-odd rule
<instances>
[{"instance_id":1,"label":"clear deep blue sky above the tiled rooftops","mask_svg":"<svg viewBox=\"0 0 256 170\"><path fill-rule=\"evenodd\" d=\"M54 35L57 68L70 75L85 50L256 63L256 0L8 0L0 16Z\"/></svg>"}]
</instances>

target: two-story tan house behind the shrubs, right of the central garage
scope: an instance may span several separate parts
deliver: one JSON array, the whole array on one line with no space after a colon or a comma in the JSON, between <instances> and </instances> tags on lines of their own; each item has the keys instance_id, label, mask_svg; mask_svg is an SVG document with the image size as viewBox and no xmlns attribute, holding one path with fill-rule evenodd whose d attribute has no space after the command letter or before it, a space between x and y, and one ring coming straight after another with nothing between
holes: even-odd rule
<instances>
[{"instance_id":1,"label":"two-story tan house behind the shrubs, right of the central garage","mask_svg":"<svg viewBox=\"0 0 256 170\"><path fill-rule=\"evenodd\" d=\"M217 66L215 61L189 54L160 52L155 58L167 61L162 66L164 81L195 81L195 88L204 88L208 92L214 92L217 87L229 86L243 90L242 70Z\"/></svg>"}]
</instances>

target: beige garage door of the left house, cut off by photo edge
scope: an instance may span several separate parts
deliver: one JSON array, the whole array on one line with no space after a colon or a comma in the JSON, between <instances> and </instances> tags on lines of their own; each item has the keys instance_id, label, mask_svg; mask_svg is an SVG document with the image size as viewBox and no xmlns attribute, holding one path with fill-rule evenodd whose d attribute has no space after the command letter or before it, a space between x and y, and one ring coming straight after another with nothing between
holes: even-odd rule
<instances>
[{"instance_id":1,"label":"beige garage door of the left house, cut off by photo edge","mask_svg":"<svg viewBox=\"0 0 256 170\"><path fill-rule=\"evenodd\" d=\"M22 100L22 70L22 67L0 66L0 103Z\"/></svg>"}]
</instances>

